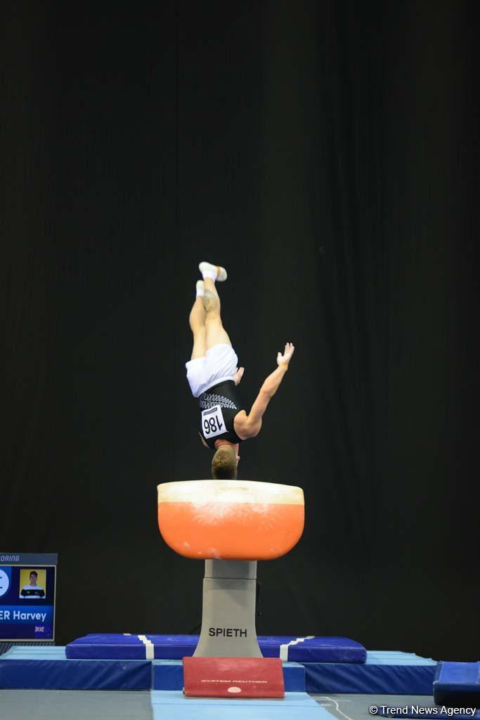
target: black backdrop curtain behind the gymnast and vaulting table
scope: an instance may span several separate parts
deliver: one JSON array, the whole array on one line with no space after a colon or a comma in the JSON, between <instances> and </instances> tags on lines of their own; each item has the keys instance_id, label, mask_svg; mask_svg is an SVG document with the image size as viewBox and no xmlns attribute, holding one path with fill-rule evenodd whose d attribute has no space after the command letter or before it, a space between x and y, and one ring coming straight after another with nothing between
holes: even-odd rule
<instances>
[{"instance_id":1,"label":"black backdrop curtain behind the gymnast and vaulting table","mask_svg":"<svg viewBox=\"0 0 480 720\"><path fill-rule=\"evenodd\" d=\"M252 402L240 477L304 488L259 634L475 660L478 94L453 0L7 3L1 550L59 552L57 642L188 632L158 482L208 477L198 261Z\"/></svg>"}]
</instances>

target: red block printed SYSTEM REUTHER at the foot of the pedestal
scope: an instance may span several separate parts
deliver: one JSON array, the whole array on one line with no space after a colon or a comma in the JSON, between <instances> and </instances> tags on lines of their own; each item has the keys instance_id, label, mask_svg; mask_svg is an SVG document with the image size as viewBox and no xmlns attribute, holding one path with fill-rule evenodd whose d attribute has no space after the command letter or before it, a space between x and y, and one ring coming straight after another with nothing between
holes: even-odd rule
<instances>
[{"instance_id":1,"label":"red block printed SYSTEM REUTHER at the foot of the pedestal","mask_svg":"<svg viewBox=\"0 0 480 720\"><path fill-rule=\"evenodd\" d=\"M284 698L279 657L184 657L187 698Z\"/></svg>"}]
</instances>

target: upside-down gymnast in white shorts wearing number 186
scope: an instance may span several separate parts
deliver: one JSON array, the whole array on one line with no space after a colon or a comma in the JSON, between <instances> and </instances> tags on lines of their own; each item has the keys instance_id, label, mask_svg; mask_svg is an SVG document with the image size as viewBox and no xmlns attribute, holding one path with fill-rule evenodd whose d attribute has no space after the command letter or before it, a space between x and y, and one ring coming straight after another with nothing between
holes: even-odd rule
<instances>
[{"instance_id":1,"label":"upside-down gymnast in white shorts wearing number 186","mask_svg":"<svg viewBox=\"0 0 480 720\"><path fill-rule=\"evenodd\" d=\"M196 298L190 312L194 347L186 363L186 377L192 395L200 401L199 436L205 447L215 451L212 477L235 480L240 460L238 446L260 432L263 413L284 379L295 348L286 343L284 353L279 352L276 369L263 382L247 414L236 390L245 368L237 366L237 355L222 325L215 287L216 281L227 279L227 271L207 262L201 262L199 270L203 280L196 283Z\"/></svg>"}]
</instances>

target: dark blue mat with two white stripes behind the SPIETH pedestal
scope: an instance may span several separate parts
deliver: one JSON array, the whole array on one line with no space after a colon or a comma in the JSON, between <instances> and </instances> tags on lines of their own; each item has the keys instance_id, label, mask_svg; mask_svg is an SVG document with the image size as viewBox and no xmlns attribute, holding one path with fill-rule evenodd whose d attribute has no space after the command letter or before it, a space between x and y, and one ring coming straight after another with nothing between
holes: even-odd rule
<instances>
[{"instance_id":1,"label":"dark blue mat with two white stripes behind the SPIETH pedestal","mask_svg":"<svg viewBox=\"0 0 480 720\"><path fill-rule=\"evenodd\" d=\"M69 659L181 660L194 654L198 635L130 635L94 633L66 647ZM366 649L346 637L259 636L263 657L290 662L365 662Z\"/></svg>"}]
</instances>

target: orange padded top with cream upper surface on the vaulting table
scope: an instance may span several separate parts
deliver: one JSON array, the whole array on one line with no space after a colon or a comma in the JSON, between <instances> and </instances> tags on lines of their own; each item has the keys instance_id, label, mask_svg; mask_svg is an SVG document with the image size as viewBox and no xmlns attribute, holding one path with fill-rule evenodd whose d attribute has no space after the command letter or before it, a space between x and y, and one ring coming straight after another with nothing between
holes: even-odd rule
<instances>
[{"instance_id":1,"label":"orange padded top with cream upper surface on the vaulting table","mask_svg":"<svg viewBox=\"0 0 480 720\"><path fill-rule=\"evenodd\" d=\"M304 494L273 482L164 482L158 485L158 527L184 557L273 560L302 536Z\"/></svg>"}]
</instances>

